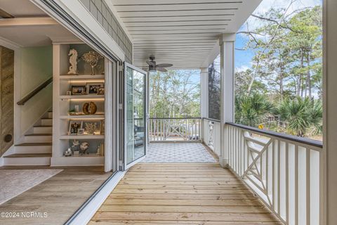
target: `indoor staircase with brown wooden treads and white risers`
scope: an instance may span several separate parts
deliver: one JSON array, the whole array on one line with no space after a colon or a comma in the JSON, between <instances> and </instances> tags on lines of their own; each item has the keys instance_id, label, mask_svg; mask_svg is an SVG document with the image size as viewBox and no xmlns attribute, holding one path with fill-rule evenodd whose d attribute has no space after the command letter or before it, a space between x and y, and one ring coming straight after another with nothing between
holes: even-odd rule
<instances>
[{"instance_id":1,"label":"indoor staircase with brown wooden treads and white risers","mask_svg":"<svg viewBox=\"0 0 337 225\"><path fill-rule=\"evenodd\" d=\"M26 134L14 153L4 156L4 165L51 165L53 112L47 112Z\"/></svg>"}]
</instances>

